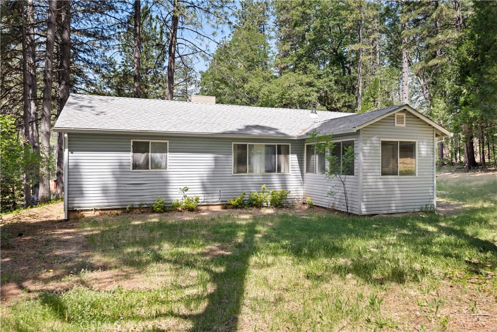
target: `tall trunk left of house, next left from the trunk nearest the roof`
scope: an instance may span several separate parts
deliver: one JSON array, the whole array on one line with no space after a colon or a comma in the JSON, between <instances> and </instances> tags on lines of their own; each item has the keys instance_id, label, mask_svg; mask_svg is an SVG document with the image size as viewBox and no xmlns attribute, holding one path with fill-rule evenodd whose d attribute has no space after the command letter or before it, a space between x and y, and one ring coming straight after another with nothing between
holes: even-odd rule
<instances>
[{"instance_id":1,"label":"tall trunk left of house, next left from the trunk nearest the roof","mask_svg":"<svg viewBox=\"0 0 497 332\"><path fill-rule=\"evenodd\" d=\"M52 71L57 1L48 2L47 45L43 73L43 105L41 109L40 203L50 201L50 115L52 109Z\"/></svg>"}]
</instances>

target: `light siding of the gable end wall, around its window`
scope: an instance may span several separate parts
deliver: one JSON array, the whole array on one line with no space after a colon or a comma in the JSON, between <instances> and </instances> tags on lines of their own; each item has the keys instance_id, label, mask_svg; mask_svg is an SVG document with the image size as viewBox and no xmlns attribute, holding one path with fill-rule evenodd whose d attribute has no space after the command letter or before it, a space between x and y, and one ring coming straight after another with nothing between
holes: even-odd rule
<instances>
[{"instance_id":1,"label":"light siding of the gable end wall, around its window","mask_svg":"<svg viewBox=\"0 0 497 332\"><path fill-rule=\"evenodd\" d=\"M422 211L433 205L433 128L406 113L406 127L394 115L362 131L362 213ZM381 139L417 140L417 176L381 177Z\"/></svg>"}]
</instances>

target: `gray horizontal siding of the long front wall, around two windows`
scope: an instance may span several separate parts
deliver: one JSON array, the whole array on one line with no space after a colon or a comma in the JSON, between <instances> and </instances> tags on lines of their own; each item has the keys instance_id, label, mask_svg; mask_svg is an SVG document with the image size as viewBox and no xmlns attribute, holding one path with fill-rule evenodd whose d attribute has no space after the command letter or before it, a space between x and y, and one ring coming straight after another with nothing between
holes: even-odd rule
<instances>
[{"instance_id":1,"label":"gray horizontal siding of the long front wall, around two windows","mask_svg":"<svg viewBox=\"0 0 497 332\"><path fill-rule=\"evenodd\" d=\"M131 140L169 141L167 171L131 171ZM200 196L201 204L224 204L242 192L286 189L302 199L302 144L295 140L250 139L254 143L291 143L291 173L233 175L232 142L243 139L69 134L70 210L123 208L180 199L179 188Z\"/></svg>"}]
</instances>

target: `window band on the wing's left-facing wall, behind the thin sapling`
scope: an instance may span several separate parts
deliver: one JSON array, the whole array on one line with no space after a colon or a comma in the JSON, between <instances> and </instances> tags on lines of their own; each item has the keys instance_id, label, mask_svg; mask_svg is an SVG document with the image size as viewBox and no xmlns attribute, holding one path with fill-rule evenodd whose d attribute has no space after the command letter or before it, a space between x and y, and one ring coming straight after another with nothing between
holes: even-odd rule
<instances>
[{"instance_id":1,"label":"window band on the wing's left-facing wall, behind the thin sapling","mask_svg":"<svg viewBox=\"0 0 497 332\"><path fill-rule=\"evenodd\" d=\"M337 168L338 171L342 168L342 157L345 154L346 151L350 151L352 155L354 155L354 140L347 140L347 141L335 141L334 147L332 150L329 151L332 156L336 157L337 161ZM319 148L318 148L319 150ZM331 166L330 166L331 167ZM325 168L326 168L326 156L324 153L318 153L314 149L314 144L307 144L306 145L306 173L311 173L311 174L324 174L325 173ZM354 175L354 169L355 169L355 156L353 157L353 160L351 164L347 167L346 170L343 170L342 174L343 175ZM334 172L330 168L331 172Z\"/></svg>"}]
</instances>

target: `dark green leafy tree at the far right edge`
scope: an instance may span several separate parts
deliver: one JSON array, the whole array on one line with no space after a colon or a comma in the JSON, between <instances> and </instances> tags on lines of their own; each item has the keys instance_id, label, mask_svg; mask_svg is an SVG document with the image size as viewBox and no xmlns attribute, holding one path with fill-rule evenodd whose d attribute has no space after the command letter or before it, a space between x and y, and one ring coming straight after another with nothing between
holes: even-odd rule
<instances>
[{"instance_id":1,"label":"dark green leafy tree at the far right edge","mask_svg":"<svg viewBox=\"0 0 497 332\"><path fill-rule=\"evenodd\" d=\"M451 126L464 137L468 169L476 166L474 137L480 137L482 159L485 140L489 152L490 144L495 144L497 126L497 27L492 24L497 3L477 1L473 3L473 10L468 28L457 40L454 67L450 72L453 75L449 104Z\"/></svg>"}]
</instances>

